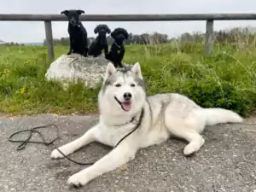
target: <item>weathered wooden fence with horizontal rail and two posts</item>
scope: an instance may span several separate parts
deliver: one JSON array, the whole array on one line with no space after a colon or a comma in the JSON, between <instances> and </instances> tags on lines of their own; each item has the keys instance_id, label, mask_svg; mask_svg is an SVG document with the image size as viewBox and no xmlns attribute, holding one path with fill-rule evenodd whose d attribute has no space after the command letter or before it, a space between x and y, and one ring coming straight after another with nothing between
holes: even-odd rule
<instances>
[{"instance_id":1,"label":"weathered wooden fence with horizontal rail and two posts","mask_svg":"<svg viewBox=\"0 0 256 192\"><path fill-rule=\"evenodd\" d=\"M49 61L55 58L51 21L67 21L65 15L0 15L7 21L44 21ZM256 20L256 14L195 14L195 15L81 15L82 21L182 21L206 20L207 54L212 49L213 20Z\"/></svg>"}]
</instances>

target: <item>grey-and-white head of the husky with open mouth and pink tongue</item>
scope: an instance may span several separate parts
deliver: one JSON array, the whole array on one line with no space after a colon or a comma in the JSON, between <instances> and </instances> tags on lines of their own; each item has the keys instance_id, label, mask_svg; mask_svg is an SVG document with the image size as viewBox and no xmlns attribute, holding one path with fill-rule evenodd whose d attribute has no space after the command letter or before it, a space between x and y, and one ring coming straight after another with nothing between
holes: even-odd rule
<instances>
[{"instance_id":1,"label":"grey-and-white head of the husky with open mouth and pink tongue","mask_svg":"<svg viewBox=\"0 0 256 192\"><path fill-rule=\"evenodd\" d=\"M113 116L134 115L146 101L146 91L140 64L117 69L108 63L107 71L99 94L101 113Z\"/></svg>"}]
</instances>

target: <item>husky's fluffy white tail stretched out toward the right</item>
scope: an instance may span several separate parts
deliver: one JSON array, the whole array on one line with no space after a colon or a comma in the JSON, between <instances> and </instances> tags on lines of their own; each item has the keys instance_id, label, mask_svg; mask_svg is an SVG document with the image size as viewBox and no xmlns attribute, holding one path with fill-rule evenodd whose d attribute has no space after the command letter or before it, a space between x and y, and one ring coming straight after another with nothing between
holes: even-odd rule
<instances>
[{"instance_id":1,"label":"husky's fluffy white tail stretched out toward the right","mask_svg":"<svg viewBox=\"0 0 256 192\"><path fill-rule=\"evenodd\" d=\"M207 116L207 125L240 123L243 121L239 114L224 108L204 108L203 110L203 113Z\"/></svg>"}]
</instances>

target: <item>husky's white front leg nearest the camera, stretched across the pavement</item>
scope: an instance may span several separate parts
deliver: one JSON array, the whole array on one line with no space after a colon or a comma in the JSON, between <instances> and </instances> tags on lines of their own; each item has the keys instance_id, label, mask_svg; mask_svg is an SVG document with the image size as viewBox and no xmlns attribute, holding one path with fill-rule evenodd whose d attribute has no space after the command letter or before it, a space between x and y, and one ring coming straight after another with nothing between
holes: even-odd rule
<instances>
[{"instance_id":1,"label":"husky's white front leg nearest the camera, stretched across the pavement","mask_svg":"<svg viewBox=\"0 0 256 192\"><path fill-rule=\"evenodd\" d=\"M125 142L127 141L124 140L119 146L113 148L109 154L96 161L94 165L73 174L73 176L69 177L67 183L75 187L84 186L90 180L117 169L129 160L133 160L138 148L134 143Z\"/></svg>"}]
</instances>

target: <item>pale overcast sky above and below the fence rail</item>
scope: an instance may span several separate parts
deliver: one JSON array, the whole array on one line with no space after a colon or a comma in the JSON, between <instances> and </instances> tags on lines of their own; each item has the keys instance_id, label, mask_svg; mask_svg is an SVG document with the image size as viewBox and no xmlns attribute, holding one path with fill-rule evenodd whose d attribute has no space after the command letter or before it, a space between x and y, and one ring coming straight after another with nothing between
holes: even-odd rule
<instances>
[{"instance_id":1,"label":"pale overcast sky above and below the fence rail","mask_svg":"<svg viewBox=\"0 0 256 192\"><path fill-rule=\"evenodd\" d=\"M115 14L256 14L255 0L7 0L0 3L1 14L60 14L66 9L83 9L85 15ZM98 24L128 32L166 33L170 38L183 32L204 32L205 21L83 21L89 37ZM256 27L256 20L214 21L214 30ZM53 38L68 37L67 21L52 22ZM45 38L43 21L0 21L0 39L6 42L35 43Z\"/></svg>"}]
</instances>

